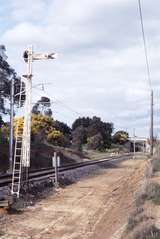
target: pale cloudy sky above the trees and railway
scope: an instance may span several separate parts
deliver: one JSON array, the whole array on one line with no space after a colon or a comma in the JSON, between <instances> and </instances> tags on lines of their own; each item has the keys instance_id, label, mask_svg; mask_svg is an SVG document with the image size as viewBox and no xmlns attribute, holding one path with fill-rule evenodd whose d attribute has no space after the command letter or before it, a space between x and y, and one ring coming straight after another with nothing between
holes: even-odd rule
<instances>
[{"instance_id":1,"label":"pale cloudy sky above the trees and railway","mask_svg":"<svg viewBox=\"0 0 160 239\"><path fill-rule=\"evenodd\" d=\"M141 0L160 133L160 2ZM56 52L33 63L33 103L48 96L53 117L71 125L82 116L113 122L115 131L149 135L147 80L138 0L0 0L0 44L19 75L22 55ZM44 84L44 89L41 85Z\"/></svg>"}]
</instances>

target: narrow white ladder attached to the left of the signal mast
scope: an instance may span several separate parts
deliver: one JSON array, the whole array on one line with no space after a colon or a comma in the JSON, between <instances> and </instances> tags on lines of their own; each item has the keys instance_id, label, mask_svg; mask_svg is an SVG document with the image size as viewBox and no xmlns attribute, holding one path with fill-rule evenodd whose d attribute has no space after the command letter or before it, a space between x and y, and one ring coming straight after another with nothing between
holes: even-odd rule
<instances>
[{"instance_id":1,"label":"narrow white ladder attached to the left of the signal mast","mask_svg":"<svg viewBox=\"0 0 160 239\"><path fill-rule=\"evenodd\" d=\"M18 108L23 105L23 97L25 96L25 86L21 81L20 92L19 92L19 102ZM24 120L23 118L18 118L16 122L15 130L15 148L14 148L14 159L13 159L13 172L12 172L12 185L11 194L19 198L21 176L22 176L22 148L23 148L23 128Z\"/></svg>"}]
</instances>

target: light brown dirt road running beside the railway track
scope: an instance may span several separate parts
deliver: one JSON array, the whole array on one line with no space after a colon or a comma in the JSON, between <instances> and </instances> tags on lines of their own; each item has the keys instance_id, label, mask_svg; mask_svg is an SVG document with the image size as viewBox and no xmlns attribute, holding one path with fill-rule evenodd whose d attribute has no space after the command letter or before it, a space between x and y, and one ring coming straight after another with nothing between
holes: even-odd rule
<instances>
[{"instance_id":1,"label":"light brown dirt road running beside the railway track","mask_svg":"<svg viewBox=\"0 0 160 239\"><path fill-rule=\"evenodd\" d=\"M128 160L60 189L23 214L11 215L0 238L119 239L145 165L145 160Z\"/></svg>"}]
</instances>

